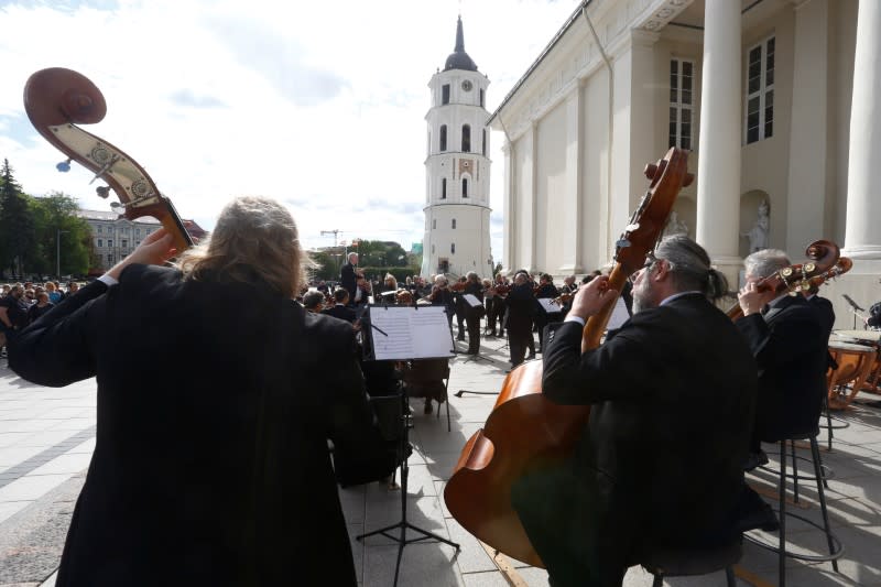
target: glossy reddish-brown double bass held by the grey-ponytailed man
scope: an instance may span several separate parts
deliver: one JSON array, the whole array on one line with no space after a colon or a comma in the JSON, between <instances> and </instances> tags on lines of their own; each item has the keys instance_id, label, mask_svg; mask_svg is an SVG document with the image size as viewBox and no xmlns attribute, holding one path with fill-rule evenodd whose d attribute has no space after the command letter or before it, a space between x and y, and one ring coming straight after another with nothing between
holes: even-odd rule
<instances>
[{"instance_id":1,"label":"glossy reddish-brown double bass held by the grey-ponytailed man","mask_svg":"<svg viewBox=\"0 0 881 587\"><path fill-rule=\"evenodd\" d=\"M672 148L645 166L648 192L616 243L609 287L618 292L645 262L664 229L679 189L694 180L688 154ZM610 300L588 318L581 351L597 348L614 308ZM444 489L453 517L483 543L532 566L544 567L511 506L511 487L530 470L572 454L590 413L588 406L559 405L542 394L542 361L527 361L504 380L485 427L468 439Z\"/></svg>"}]
</instances>

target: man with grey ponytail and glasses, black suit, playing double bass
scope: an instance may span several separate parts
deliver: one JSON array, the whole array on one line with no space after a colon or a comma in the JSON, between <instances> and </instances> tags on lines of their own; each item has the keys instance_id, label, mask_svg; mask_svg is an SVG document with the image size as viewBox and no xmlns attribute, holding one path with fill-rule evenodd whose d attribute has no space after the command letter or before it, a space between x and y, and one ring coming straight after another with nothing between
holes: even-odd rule
<instances>
[{"instance_id":1,"label":"man with grey ponytail and glasses, black suit, playing double bass","mask_svg":"<svg viewBox=\"0 0 881 587\"><path fill-rule=\"evenodd\" d=\"M542 389L590 404L575 453L514 483L512 504L555 587L620 586L656 551L737 540L735 513L755 401L755 361L713 303L725 278L684 236L634 280L633 318L581 354L585 320L618 295L606 276L548 327Z\"/></svg>"}]
</instances>

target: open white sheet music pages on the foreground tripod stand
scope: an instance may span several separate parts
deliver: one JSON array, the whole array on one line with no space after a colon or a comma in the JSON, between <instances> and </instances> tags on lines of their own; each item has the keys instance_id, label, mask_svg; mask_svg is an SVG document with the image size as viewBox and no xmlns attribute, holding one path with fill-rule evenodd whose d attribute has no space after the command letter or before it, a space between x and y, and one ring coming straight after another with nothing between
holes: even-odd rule
<instances>
[{"instance_id":1,"label":"open white sheet music pages on the foreground tripod stand","mask_svg":"<svg viewBox=\"0 0 881 587\"><path fill-rule=\"evenodd\" d=\"M373 358L382 360L453 357L453 333L444 306L370 306ZM377 329L378 328L378 329Z\"/></svg>"}]
</instances>

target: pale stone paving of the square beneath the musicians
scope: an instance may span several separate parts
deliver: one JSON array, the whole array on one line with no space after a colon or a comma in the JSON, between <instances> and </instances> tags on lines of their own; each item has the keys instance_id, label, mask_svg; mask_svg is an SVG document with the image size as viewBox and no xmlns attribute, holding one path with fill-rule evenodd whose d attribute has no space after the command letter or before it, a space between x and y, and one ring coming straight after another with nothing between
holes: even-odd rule
<instances>
[{"instance_id":1,"label":"pale stone paving of the square beneath the musicians","mask_svg":"<svg viewBox=\"0 0 881 587\"><path fill-rule=\"evenodd\" d=\"M457 343L465 350L463 343ZM407 488L409 521L428 532L461 545L454 548L438 542L410 544L403 550L399 585L446 586L546 586L547 574L507 559L503 574L474 536L454 520L443 502L444 482L449 478L465 442L480 428L496 401L493 395L465 394L459 390L497 392L509 363L501 339L486 339L481 352L488 360L469 360L458 355L450 361L449 382L452 431L447 432L446 405L440 417L425 415L422 401L412 400L414 428L411 441ZM862 394L861 394L862 395ZM864 395L866 400L873 400ZM859 400L859 398L858 398ZM831 523L845 544L840 573L829 563L787 561L787 581L794 586L881 586L881 409L868 402L841 415L850 427L836 431L833 452L823 450L824 463L835 472L826 492ZM54 570L69 523L73 502L94 447L95 382L84 381L63 389L48 389L22 381L0 360L0 586L52 585ZM822 435L825 448L825 435ZM646 439L651 442L651 439ZM773 446L765 449L773 450ZM809 452L800 448L800 455ZM772 456L773 466L774 458ZM802 470L806 465L801 465ZM759 470L749 480L772 494L775 477ZM816 487L800 485L801 506L790 506L802 515L819 520ZM363 543L357 534L396 523L401 519L400 492L379 483L342 489L359 580L367 587L390 586L394 576L398 545L384 536ZM772 498L769 498L772 499ZM822 553L825 540L807 525L787 523L790 544L802 551ZM409 537L416 533L409 532ZM770 536L776 539L776 534ZM504 563L504 561L502 561ZM776 554L751 544L737 567L739 585L776 585ZM292 583L296 584L296 562ZM652 576L633 567L626 587L649 586ZM672 586L722 586L725 576L668 578Z\"/></svg>"}]
</instances>

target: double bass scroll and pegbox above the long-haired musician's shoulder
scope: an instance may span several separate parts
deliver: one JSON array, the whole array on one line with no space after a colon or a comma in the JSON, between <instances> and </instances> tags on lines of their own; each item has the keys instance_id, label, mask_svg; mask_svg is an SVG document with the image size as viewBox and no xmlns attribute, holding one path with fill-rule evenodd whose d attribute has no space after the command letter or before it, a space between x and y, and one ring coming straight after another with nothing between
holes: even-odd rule
<instances>
[{"instance_id":1,"label":"double bass scroll and pegbox above the long-haired musician's shoulder","mask_svg":"<svg viewBox=\"0 0 881 587\"><path fill-rule=\"evenodd\" d=\"M174 205L160 194L143 167L120 149L76 126L100 122L107 113L104 95L91 80L63 67L41 69L24 85L24 110L36 131L68 157L58 163L58 171L69 171L70 161L76 161L95 173L95 180L101 178L112 187L126 218L157 219L172 235L178 253L193 246ZM107 186L96 191L102 198L110 194Z\"/></svg>"}]
</instances>

